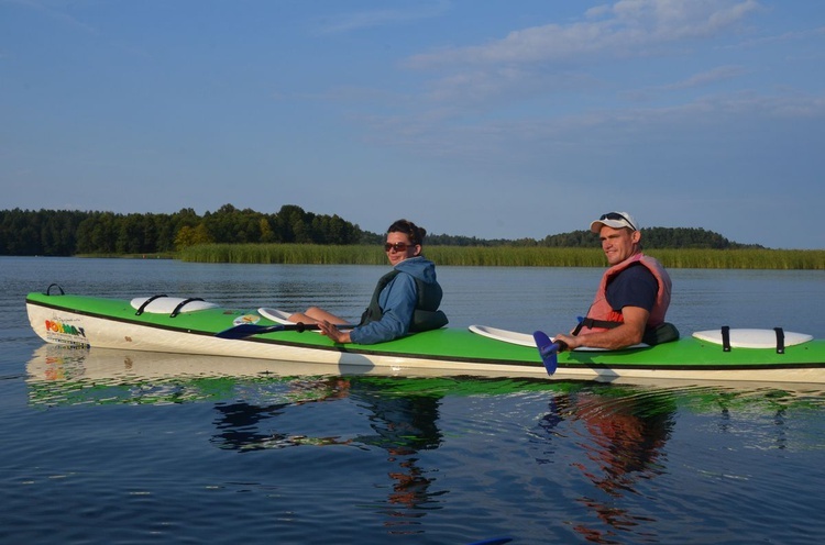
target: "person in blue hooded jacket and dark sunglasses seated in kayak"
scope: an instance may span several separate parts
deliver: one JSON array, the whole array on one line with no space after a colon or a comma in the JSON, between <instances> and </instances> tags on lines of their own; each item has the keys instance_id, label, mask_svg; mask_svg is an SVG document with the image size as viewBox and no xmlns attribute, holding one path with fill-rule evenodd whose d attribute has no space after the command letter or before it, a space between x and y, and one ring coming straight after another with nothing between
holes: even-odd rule
<instances>
[{"instance_id":1,"label":"person in blue hooded jacket and dark sunglasses seated in kayak","mask_svg":"<svg viewBox=\"0 0 825 545\"><path fill-rule=\"evenodd\" d=\"M317 322L321 333L337 343L375 344L447 324L447 315L438 310L441 286L436 280L436 264L421 254L427 231L407 220L398 220L387 229L384 252L393 270L375 287L361 323L350 331L338 325L346 322L330 312L312 307L293 314L293 322Z\"/></svg>"}]
</instances>

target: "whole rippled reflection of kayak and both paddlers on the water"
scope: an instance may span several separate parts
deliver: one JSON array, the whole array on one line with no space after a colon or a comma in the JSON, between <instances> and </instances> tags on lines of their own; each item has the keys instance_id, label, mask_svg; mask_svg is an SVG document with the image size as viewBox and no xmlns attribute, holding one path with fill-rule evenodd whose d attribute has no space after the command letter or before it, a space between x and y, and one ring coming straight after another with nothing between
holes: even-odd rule
<instances>
[{"instance_id":1,"label":"whole rippled reflection of kayak and both paddlers on the water","mask_svg":"<svg viewBox=\"0 0 825 545\"><path fill-rule=\"evenodd\" d=\"M453 485L439 472L443 460L433 467L426 455L442 449L447 452L441 457L457 456L442 448L451 438L442 429L454 424L447 419L466 419L465 437L458 437L458 444L466 440L473 445L483 434L485 441L517 445L524 432L513 430L528 430L537 463L530 477L564 476L540 490L547 501L539 503L571 499L563 522L593 543L625 542L628 535L641 540L644 529L661 524L647 498L654 482L672 471L668 443L685 414L705 418L711 432L705 430L704 442L730 435L746 448L799 449L801 441L805 448L823 448L821 438L801 440L794 429L800 411L822 414L821 386L647 388L355 375L338 367L307 376L306 366L284 362L53 345L37 348L26 371L29 403L34 408L209 403L209 444L245 459L309 446L324 447L324 453L356 448L376 455L382 463L370 461L361 486L384 491L369 509L382 514L389 533L419 533L422 518L447 507ZM455 399L466 396L497 399L509 411L507 420L524 421L524 426L508 423L495 429L485 425L484 414L457 414ZM447 401L453 412L444 415ZM487 456L494 465L506 464L507 458L496 456L507 453L513 454L503 449ZM360 467L344 469L356 475ZM514 504L521 501L513 482L517 477L512 489L496 489L494 497Z\"/></svg>"}]
</instances>

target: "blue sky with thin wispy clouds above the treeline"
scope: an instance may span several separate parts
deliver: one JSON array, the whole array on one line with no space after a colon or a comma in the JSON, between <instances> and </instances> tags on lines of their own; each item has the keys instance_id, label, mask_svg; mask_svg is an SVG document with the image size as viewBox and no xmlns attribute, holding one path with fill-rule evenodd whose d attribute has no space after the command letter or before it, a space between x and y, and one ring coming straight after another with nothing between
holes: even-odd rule
<instances>
[{"instance_id":1,"label":"blue sky with thin wispy clouds above the treeline","mask_svg":"<svg viewBox=\"0 0 825 545\"><path fill-rule=\"evenodd\" d=\"M820 0L0 0L0 209L825 248Z\"/></svg>"}]
</instances>

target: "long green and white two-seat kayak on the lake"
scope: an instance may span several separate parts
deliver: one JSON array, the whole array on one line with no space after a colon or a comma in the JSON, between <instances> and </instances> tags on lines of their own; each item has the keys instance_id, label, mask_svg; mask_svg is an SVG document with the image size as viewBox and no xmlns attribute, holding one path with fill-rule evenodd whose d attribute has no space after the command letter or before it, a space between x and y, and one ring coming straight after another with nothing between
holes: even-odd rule
<instances>
[{"instance_id":1,"label":"long green and white two-seat kayak on the lake","mask_svg":"<svg viewBox=\"0 0 825 545\"><path fill-rule=\"evenodd\" d=\"M324 364L348 372L825 383L825 340L780 329L719 327L657 346L563 352L550 375L532 334L485 325L442 327L375 345L336 344L265 308L230 309L166 296L110 299L52 288L29 293L29 321L45 342L68 347Z\"/></svg>"}]
</instances>

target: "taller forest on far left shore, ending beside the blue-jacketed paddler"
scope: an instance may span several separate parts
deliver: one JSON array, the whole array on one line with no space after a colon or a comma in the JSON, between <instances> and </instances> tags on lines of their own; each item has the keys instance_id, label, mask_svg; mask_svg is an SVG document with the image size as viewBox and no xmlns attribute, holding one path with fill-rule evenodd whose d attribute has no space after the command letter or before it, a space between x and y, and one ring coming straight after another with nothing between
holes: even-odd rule
<instances>
[{"instance_id":1,"label":"taller forest on far left shore, ending beside the blue-jacketed paddler","mask_svg":"<svg viewBox=\"0 0 825 545\"><path fill-rule=\"evenodd\" d=\"M366 235L364 240L358 225L338 215L314 214L293 204L274 214L224 204L202 216L193 209L173 214L0 211L0 255L165 254L212 243L373 242Z\"/></svg>"}]
</instances>

